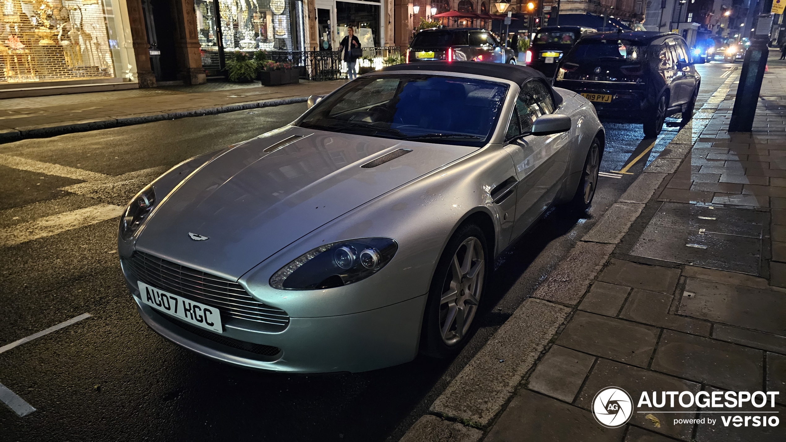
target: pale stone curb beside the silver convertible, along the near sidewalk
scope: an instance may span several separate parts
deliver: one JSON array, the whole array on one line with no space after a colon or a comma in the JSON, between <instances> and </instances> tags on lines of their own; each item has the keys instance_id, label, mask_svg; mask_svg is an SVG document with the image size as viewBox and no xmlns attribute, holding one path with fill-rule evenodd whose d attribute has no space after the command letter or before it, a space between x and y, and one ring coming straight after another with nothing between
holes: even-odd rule
<instances>
[{"instance_id":1,"label":"pale stone curb beside the silver convertible, along the near sidewalk","mask_svg":"<svg viewBox=\"0 0 786 442\"><path fill-rule=\"evenodd\" d=\"M718 104L725 100L736 75L729 79L696 111L693 119L682 127L672 141L645 170L630 184L626 192L607 210L597 224L579 239L567 257L548 278L525 300L502 327L476 353L461 372L437 397L429 409L431 414L417 420L400 442L431 442L436 434L447 441L476 442L485 430L494 425L495 418L505 410L521 382L548 351L567 321L578 309L589 284L611 258L612 251L623 239L652 199L657 188L670 174L674 174L699 141L700 134L714 116ZM717 97L716 97L717 96ZM551 315L531 315L527 308L537 301L556 310ZM543 307L541 308L543 309ZM549 308L546 308L549 310ZM541 312L542 313L542 312ZM544 317L551 316L551 317ZM545 332L545 333L544 333ZM525 336L538 335L529 344ZM527 347L529 347L527 349ZM529 352L527 352L529 350ZM500 359L497 365L511 363L512 370L495 370L490 356L514 353L511 360ZM510 357L510 356L509 356ZM462 394L463 393L463 394ZM439 416L439 417L437 417ZM459 433L457 426L479 429L482 432Z\"/></svg>"}]
</instances>

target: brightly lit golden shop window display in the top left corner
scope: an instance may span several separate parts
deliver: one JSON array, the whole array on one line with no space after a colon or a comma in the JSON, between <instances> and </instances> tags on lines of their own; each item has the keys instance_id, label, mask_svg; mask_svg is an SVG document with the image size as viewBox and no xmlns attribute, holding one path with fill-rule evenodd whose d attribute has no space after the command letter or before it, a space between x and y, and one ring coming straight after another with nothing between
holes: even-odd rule
<instances>
[{"instance_id":1,"label":"brightly lit golden shop window display in the top left corner","mask_svg":"<svg viewBox=\"0 0 786 442\"><path fill-rule=\"evenodd\" d=\"M135 80L125 8L124 0L0 0L0 87Z\"/></svg>"}]
</instances>

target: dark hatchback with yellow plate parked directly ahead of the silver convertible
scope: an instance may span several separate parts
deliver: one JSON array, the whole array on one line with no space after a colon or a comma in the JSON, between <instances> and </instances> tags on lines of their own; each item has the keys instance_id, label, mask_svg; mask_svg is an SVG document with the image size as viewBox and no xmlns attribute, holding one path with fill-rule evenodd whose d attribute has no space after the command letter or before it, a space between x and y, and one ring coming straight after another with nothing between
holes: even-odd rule
<instances>
[{"instance_id":1,"label":"dark hatchback with yellow plate parked directly ahead of the silver convertible","mask_svg":"<svg viewBox=\"0 0 786 442\"><path fill-rule=\"evenodd\" d=\"M581 93L601 119L641 122L645 137L656 137L667 116L691 119L701 81L693 64L678 34L604 32L560 60L554 86Z\"/></svg>"}]
</instances>

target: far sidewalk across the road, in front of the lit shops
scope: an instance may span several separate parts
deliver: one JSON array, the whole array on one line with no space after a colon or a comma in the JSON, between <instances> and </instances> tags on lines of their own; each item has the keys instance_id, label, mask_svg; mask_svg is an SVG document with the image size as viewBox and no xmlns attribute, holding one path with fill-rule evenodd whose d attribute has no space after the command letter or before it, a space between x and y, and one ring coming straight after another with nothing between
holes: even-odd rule
<instances>
[{"instance_id":1,"label":"far sidewalk across the road, in front of the lit shops","mask_svg":"<svg viewBox=\"0 0 786 442\"><path fill-rule=\"evenodd\" d=\"M0 100L0 143L300 103L310 95L332 92L345 82L300 82L274 87L259 86L259 82L208 83L199 86L8 98Z\"/></svg>"}]
</instances>

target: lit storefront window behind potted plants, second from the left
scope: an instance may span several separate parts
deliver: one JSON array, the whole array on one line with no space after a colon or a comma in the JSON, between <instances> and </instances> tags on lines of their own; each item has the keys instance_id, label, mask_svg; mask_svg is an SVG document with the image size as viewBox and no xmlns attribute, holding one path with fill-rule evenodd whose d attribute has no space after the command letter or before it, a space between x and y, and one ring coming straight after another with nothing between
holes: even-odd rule
<instances>
[{"instance_id":1,"label":"lit storefront window behind potted plants, second from the left","mask_svg":"<svg viewBox=\"0 0 786 442\"><path fill-rule=\"evenodd\" d=\"M194 9L202 66L207 70L223 67L223 53L300 50L303 46L298 24L302 23L303 2L194 0Z\"/></svg>"}]
</instances>

